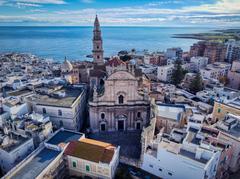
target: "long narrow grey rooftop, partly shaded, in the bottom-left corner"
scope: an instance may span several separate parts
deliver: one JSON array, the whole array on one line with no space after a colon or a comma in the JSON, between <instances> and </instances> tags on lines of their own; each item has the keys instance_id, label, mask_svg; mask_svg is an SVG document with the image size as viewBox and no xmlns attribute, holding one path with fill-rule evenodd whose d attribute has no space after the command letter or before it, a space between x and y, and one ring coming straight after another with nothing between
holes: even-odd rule
<instances>
[{"instance_id":1,"label":"long narrow grey rooftop, partly shaded, in the bottom-left corner","mask_svg":"<svg viewBox=\"0 0 240 179\"><path fill-rule=\"evenodd\" d=\"M44 148L31 161L17 171L12 179L36 178L61 152Z\"/></svg>"}]
</instances>

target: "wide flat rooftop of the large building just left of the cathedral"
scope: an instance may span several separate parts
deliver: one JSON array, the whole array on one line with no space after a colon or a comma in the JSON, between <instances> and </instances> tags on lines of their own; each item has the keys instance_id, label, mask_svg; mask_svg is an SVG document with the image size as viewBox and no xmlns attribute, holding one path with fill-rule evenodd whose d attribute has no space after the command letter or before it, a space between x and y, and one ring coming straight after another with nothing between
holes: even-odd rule
<instances>
[{"instance_id":1,"label":"wide flat rooftop of the large building just left of the cathedral","mask_svg":"<svg viewBox=\"0 0 240 179\"><path fill-rule=\"evenodd\" d=\"M71 107L75 100L83 92L83 88L62 88L60 90L54 91L54 93L65 93L64 97L56 97L46 94L35 94L27 99L37 103L38 105L46 106L61 106L61 107Z\"/></svg>"}]
</instances>

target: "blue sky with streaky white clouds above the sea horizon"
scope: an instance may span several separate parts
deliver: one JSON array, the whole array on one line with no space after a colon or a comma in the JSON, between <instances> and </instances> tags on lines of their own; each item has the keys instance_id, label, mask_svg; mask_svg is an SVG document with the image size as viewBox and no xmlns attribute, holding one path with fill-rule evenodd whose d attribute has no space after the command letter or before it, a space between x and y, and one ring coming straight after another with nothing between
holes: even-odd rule
<instances>
[{"instance_id":1,"label":"blue sky with streaky white clouds above the sea horizon","mask_svg":"<svg viewBox=\"0 0 240 179\"><path fill-rule=\"evenodd\" d=\"M0 26L240 27L240 0L0 0Z\"/></svg>"}]
</instances>

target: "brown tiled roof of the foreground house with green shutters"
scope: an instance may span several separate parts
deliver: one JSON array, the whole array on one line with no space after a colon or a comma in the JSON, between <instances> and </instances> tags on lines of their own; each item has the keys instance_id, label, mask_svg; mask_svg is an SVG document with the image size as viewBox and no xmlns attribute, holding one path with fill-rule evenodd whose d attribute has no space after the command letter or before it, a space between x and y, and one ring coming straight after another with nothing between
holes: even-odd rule
<instances>
[{"instance_id":1,"label":"brown tiled roof of the foreground house with green shutters","mask_svg":"<svg viewBox=\"0 0 240 179\"><path fill-rule=\"evenodd\" d=\"M64 154L92 162L110 163L115 147L112 144L91 139L72 141L67 146Z\"/></svg>"}]
</instances>

